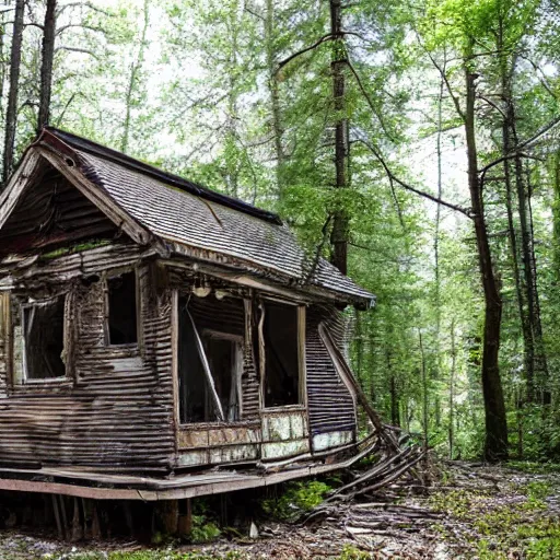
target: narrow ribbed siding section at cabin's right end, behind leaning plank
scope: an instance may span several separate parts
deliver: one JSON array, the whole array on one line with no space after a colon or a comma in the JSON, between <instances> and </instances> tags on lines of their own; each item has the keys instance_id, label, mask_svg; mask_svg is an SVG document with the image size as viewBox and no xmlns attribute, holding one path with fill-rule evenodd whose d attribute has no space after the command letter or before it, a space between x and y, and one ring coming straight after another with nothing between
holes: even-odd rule
<instances>
[{"instance_id":1,"label":"narrow ribbed siding section at cabin's right end, behind leaning plank","mask_svg":"<svg viewBox=\"0 0 560 560\"><path fill-rule=\"evenodd\" d=\"M310 307L305 346L311 433L316 435L329 432L354 432L353 399L320 340L318 334L320 322L327 323L337 343L342 342L343 335L343 323L339 312L331 307Z\"/></svg>"}]
</instances>

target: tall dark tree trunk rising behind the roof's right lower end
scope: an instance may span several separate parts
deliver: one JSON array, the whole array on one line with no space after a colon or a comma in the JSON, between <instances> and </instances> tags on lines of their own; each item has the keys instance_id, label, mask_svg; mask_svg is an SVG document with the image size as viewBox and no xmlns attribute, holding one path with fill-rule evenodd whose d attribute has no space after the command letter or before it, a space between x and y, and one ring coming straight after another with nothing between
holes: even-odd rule
<instances>
[{"instance_id":1,"label":"tall dark tree trunk rising behind the roof's right lower end","mask_svg":"<svg viewBox=\"0 0 560 560\"><path fill-rule=\"evenodd\" d=\"M332 40L332 97L335 105L335 167L336 188L348 187L348 118L346 116L346 48L342 31L342 10L340 0L330 0L330 33ZM341 198L341 197L340 197ZM349 218L345 205L339 200L332 219L331 262L343 275L348 271Z\"/></svg>"}]
</instances>

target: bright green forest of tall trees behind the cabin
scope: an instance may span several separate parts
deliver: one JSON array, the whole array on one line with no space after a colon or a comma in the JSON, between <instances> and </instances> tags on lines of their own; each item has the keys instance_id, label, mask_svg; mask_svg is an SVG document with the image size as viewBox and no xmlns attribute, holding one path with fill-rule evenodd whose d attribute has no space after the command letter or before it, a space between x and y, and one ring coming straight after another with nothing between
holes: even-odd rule
<instances>
[{"instance_id":1,"label":"bright green forest of tall trees behind the cabin","mask_svg":"<svg viewBox=\"0 0 560 560\"><path fill-rule=\"evenodd\" d=\"M11 0L2 186L51 125L280 213L386 422L560 458L558 0Z\"/></svg>"}]
</instances>

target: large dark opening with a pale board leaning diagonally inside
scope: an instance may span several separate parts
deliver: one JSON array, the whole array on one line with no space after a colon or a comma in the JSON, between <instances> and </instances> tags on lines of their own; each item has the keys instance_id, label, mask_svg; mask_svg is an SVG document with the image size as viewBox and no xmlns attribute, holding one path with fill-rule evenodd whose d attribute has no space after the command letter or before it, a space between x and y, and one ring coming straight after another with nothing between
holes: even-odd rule
<instances>
[{"instance_id":1,"label":"large dark opening with a pale board leaning diagonally inside","mask_svg":"<svg viewBox=\"0 0 560 560\"><path fill-rule=\"evenodd\" d=\"M234 422L241 419L243 337L238 332L208 328L215 325L225 328L228 318L223 317L225 308L219 311L222 302L211 296L206 303L189 306L186 298L179 298L178 376L182 423ZM229 302L228 307L235 308L237 304L243 314L241 301L233 304Z\"/></svg>"}]
</instances>

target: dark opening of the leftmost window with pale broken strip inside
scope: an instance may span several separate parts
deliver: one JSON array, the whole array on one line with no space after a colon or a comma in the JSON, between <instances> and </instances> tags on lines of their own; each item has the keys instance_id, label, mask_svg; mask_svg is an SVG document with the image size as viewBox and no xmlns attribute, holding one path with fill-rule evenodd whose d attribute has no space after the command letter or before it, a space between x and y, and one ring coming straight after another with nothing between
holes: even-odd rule
<instances>
[{"instance_id":1,"label":"dark opening of the leftmost window with pale broken strip inside","mask_svg":"<svg viewBox=\"0 0 560 560\"><path fill-rule=\"evenodd\" d=\"M23 307L25 377L63 377L65 296Z\"/></svg>"}]
</instances>

